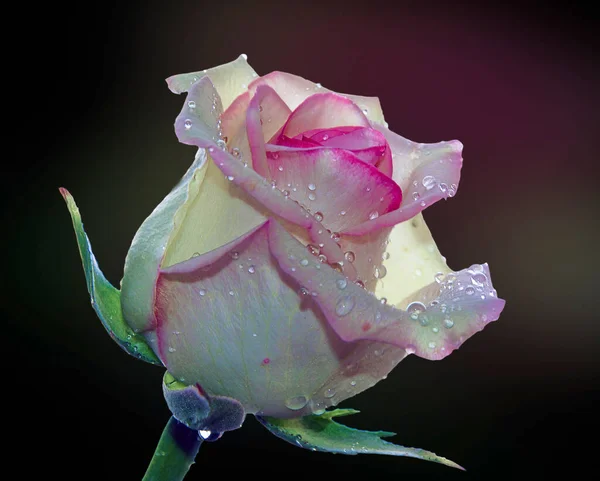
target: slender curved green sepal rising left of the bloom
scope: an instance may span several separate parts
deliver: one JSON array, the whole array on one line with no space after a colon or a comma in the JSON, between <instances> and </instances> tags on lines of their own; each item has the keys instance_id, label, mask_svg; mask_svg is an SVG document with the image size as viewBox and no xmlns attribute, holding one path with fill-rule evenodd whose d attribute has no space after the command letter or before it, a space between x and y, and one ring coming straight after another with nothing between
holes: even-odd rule
<instances>
[{"instance_id":1,"label":"slender curved green sepal rising left of the bloom","mask_svg":"<svg viewBox=\"0 0 600 481\"><path fill-rule=\"evenodd\" d=\"M73 229L75 229L77 244L79 246L79 254L83 263L85 280L92 299L92 307L96 311L100 321L102 321L102 325L108 331L110 337L124 351L142 361L162 366L162 362L160 362L160 359L154 354L154 351L148 346L144 338L136 334L125 322L123 312L121 311L121 292L106 280L98 267L98 262L92 253L90 241L83 230L81 215L73 196L64 188L60 189L60 193L65 199L67 208L71 214Z\"/></svg>"}]
</instances>

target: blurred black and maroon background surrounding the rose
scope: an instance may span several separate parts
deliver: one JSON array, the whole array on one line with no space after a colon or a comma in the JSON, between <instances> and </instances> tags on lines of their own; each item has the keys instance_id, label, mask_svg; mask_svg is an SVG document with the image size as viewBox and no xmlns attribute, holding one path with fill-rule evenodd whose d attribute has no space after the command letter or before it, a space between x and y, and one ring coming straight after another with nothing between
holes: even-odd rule
<instances>
[{"instance_id":1,"label":"blurred black and maroon background surrounding the rose","mask_svg":"<svg viewBox=\"0 0 600 481\"><path fill-rule=\"evenodd\" d=\"M451 267L489 262L497 323L443 362L414 356L344 402L348 424L465 466L311 453L249 418L188 478L577 479L596 454L599 256L595 18L577 4L80 2L6 17L3 467L19 479L141 479L169 413L162 371L128 357L90 307L59 186L118 285L138 226L194 151L164 78L240 53L379 96L390 128L460 139L459 194L427 209ZM358 3L358 2L357 2ZM12 98L11 98L12 97ZM10 132L10 130L9 130ZM16 146L16 147L15 147ZM22 459L21 459L22 457ZM4 478L2 475L1 477Z\"/></svg>"}]
</instances>

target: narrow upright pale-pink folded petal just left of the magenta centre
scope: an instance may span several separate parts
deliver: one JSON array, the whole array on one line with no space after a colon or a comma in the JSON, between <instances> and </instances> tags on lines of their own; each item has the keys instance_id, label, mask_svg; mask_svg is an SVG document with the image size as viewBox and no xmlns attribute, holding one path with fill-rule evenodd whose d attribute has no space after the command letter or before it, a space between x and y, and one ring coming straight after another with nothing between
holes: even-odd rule
<instances>
[{"instance_id":1,"label":"narrow upright pale-pink folded petal just left of the magenta centre","mask_svg":"<svg viewBox=\"0 0 600 481\"><path fill-rule=\"evenodd\" d=\"M265 142L285 124L290 109L275 91L266 85L259 86L246 113L246 131L254 170L263 177L267 174Z\"/></svg>"}]
</instances>

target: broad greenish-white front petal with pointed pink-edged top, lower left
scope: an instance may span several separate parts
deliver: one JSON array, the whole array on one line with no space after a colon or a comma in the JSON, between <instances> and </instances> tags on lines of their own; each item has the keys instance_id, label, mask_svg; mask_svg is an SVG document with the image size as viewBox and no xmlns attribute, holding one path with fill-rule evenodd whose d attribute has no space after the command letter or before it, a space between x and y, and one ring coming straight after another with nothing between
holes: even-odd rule
<instances>
[{"instance_id":1,"label":"broad greenish-white front petal with pointed pink-edged top, lower left","mask_svg":"<svg viewBox=\"0 0 600 481\"><path fill-rule=\"evenodd\" d=\"M282 277L267 225L161 272L160 354L186 384L237 399L249 413L292 417L312 412L313 393L353 346Z\"/></svg>"}]
</instances>

